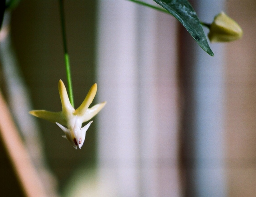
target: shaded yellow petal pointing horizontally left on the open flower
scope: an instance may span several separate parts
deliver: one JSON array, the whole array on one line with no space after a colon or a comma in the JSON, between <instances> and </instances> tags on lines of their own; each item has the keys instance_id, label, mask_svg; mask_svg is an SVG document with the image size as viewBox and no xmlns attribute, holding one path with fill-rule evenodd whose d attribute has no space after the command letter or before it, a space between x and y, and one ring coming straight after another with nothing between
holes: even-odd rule
<instances>
[{"instance_id":1,"label":"shaded yellow petal pointing horizontally left on the open flower","mask_svg":"<svg viewBox=\"0 0 256 197\"><path fill-rule=\"evenodd\" d=\"M33 111L30 111L29 113L36 117L40 117L42 119L45 119L51 122L58 122L60 124L66 125L66 120L62 115L62 111L51 112L46 110L33 110Z\"/></svg>"}]
</instances>

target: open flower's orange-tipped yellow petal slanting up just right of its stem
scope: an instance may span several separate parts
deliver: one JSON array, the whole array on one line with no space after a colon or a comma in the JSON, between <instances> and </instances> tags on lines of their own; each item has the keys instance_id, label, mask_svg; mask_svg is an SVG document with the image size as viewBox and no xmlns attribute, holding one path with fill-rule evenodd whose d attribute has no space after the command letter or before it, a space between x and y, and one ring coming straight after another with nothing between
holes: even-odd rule
<instances>
[{"instance_id":1,"label":"open flower's orange-tipped yellow petal slanting up just right of its stem","mask_svg":"<svg viewBox=\"0 0 256 197\"><path fill-rule=\"evenodd\" d=\"M86 113L86 110L92 103L92 100L94 99L95 95L97 92L97 84L93 84L92 87L90 88L86 98L82 102L82 104L75 110L74 114L75 115L84 115Z\"/></svg>"}]
</instances>

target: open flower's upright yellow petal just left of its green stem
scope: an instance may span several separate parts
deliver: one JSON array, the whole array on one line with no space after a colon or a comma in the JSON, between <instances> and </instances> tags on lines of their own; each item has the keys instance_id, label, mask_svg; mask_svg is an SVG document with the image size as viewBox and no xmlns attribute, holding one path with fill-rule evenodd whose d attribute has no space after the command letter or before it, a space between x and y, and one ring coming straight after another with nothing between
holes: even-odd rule
<instances>
[{"instance_id":1,"label":"open flower's upright yellow petal just left of its green stem","mask_svg":"<svg viewBox=\"0 0 256 197\"><path fill-rule=\"evenodd\" d=\"M68 98L68 93L66 90L66 87L64 85L64 83L62 82L62 80L59 81L59 93L60 93L60 100L61 100L61 104L62 104L62 111L64 113L66 113L67 111L73 111L74 107L72 107L69 98ZM58 121L57 121L58 122Z\"/></svg>"}]
</instances>

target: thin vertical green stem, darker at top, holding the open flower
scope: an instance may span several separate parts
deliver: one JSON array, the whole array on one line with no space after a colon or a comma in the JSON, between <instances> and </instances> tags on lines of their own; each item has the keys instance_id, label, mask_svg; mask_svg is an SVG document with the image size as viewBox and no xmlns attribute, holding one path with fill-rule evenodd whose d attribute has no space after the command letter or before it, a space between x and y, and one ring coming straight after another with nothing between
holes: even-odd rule
<instances>
[{"instance_id":1,"label":"thin vertical green stem, darker at top, holding the open flower","mask_svg":"<svg viewBox=\"0 0 256 197\"><path fill-rule=\"evenodd\" d=\"M63 39L63 46L64 46L64 58L65 58L66 74L67 74L67 80L68 80L68 96L69 96L71 105L74 107L70 63L69 63L68 48L67 48L67 41L66 41L66 31L65 31L66 28L65 28L65 19L64 19L63 0L60 0L59 2L60 2L60 19L61 19L61 28L62 28L62 39Z\"/></svg>"}]
</instances>

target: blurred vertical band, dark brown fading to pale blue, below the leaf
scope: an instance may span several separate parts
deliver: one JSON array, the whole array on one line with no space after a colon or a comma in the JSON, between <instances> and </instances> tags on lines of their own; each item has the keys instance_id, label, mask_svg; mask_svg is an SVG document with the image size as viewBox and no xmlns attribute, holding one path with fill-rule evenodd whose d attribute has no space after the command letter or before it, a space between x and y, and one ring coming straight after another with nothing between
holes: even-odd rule
<instances>
[{"instance_id":1,"label":"blurred vertical band, dark brown fading to pale blue, below the leaf","mask_svg":"<svg viewBox=\"0 0 256 197\"><path fill-rule=\"evenodd\" d=\"M190 0L203 22L224 9L222 0ZM180 135L184 196L225 197L223 43L210 44L208 55L180 28ZM204 28L205 33L208 29Z\"/></svg>"}]
</instances>

